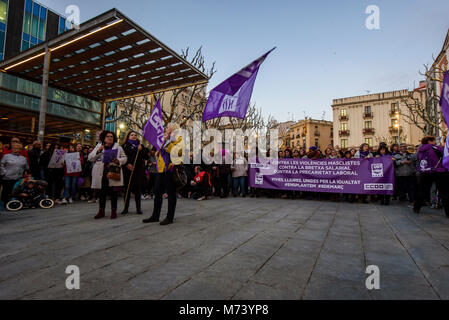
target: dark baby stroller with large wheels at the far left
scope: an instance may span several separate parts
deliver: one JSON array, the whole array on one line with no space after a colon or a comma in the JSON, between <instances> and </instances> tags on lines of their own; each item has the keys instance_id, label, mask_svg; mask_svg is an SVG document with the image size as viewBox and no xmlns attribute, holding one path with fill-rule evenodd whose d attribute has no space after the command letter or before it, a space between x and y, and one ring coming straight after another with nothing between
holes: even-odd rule
<instances>
[{"instance_id":1,"label":"dark baby stroller with large wheels at the far left","mask_svg":"<svg viewBox=\"0 0 449 320\"><path fill-rule=\"evenodd\" d=\"M29 181L25 183L24 187L18 187L20 190L14 190L16 195L11 201L6 204L6 209L9 211L19 211L23 208L37 208L50 209L55 203L49 199L45 194L45 188L48 183L46 181ZM23 196L26 194L27 196Z\"/></svg>"}]
</instances>

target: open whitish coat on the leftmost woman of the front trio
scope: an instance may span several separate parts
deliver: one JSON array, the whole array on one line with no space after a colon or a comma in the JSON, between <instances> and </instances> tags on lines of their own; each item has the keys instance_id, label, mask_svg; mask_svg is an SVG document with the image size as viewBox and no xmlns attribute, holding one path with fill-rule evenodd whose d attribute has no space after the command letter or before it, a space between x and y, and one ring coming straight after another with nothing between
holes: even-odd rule
<instances>
[{"instance_id":1,"label":"open whitish coat on the leftmost woman of the front trio","mask_svg":"<svg viewBox=\"0 0 449 320\"><path fill-rule=\"evenodd\" d=\"M101 189L101 180L103 179L104 170L103 152L97 154L97 151L101 145L101 143L97 144L95 149L89 154L89 161L94 163L92 168L92 189ZM114 144L112 149L118 149L117 159L120 162L120 165L123 166L128 160L125 151L123 151L122 147L120 147L118 143ZM123 170L120 169L120 181L109 179L109 186L123 187L123 185Z\"/></svg>"}]
</instances>

